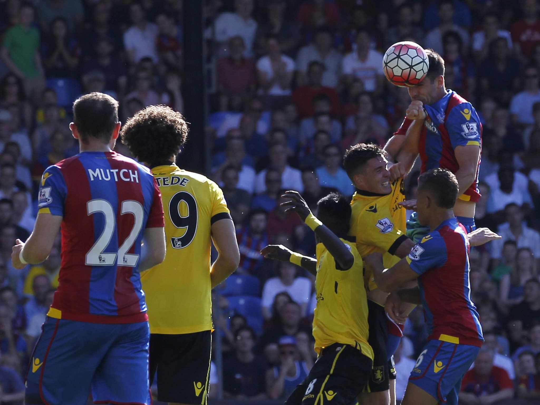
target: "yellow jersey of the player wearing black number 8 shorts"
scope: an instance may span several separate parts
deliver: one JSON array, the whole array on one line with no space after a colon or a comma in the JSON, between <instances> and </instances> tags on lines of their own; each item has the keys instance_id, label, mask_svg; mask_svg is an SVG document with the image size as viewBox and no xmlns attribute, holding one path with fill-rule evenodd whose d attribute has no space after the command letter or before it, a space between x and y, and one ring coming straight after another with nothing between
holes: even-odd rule
<instances>
[{"instance_id":1,"label":"yellow jersey of the player wearing black number 8 shorts","mask_svg":"<svg viewBox=\"0 0 540 405\"><path fill-rule=\"evenodd\" d=\"M362 279L362 258L354 242L343 240L354 264L348 270L339 270L334 257L325 245L317 245L317 276L315 291L317 305L313 315L315 352L334 343L343 343L362 350L373 360L368 343L368 305Z\"/></svg>"}]
</instances>

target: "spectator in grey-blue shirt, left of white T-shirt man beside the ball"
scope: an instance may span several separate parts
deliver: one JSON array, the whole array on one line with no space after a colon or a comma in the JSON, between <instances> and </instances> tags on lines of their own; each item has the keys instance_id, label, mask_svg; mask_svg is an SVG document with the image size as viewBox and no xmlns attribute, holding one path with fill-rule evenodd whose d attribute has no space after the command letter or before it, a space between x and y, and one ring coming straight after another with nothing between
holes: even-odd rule
<instances>
[{"instance_id":1,"label":"spectator in grey-blue shirt, left of white T-shirt man beside the ball","mask_svg":"<svg viewBox=\"0 0 540 405\"><path fill-rule=\"evenodd\" d=\"M332 31L322 27L315 31L312 44L300 48L296 56L296 84L298 86L307 83L306 73L309 63L316 60L325 66L321 84L332 89L338 87L343 56L334 49L333 42Z\"/></svg>"}]
</instances>

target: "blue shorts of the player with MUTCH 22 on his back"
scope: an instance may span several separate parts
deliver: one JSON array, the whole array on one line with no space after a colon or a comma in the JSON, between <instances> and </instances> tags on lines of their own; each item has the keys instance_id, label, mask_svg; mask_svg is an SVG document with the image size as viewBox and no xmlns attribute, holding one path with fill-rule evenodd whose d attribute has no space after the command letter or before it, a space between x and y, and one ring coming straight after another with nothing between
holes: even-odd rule
<instances>
[{"instance_id":1,"label":"blue shorts of the player with MUTCH 22 on his back","mask_svg":"<svg viewBox=\"0 0 540 405\"><path fill-rule=\"evenodd\" d=\"M28 371L26 404L151 403L148 322L55 319L42 327Z\"/></svg>"}]
</instances>

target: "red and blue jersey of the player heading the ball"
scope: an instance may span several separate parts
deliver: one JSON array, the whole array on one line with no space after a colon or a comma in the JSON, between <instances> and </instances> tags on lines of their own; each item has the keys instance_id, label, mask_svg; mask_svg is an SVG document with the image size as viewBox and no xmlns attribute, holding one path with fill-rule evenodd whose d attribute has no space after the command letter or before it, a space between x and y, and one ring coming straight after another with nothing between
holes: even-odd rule
<instances>
[{"instance_id":1,"label":"red and blue jersey of the player heading the ball","mask_svg":"<svg viewBox=\"0 0 540 405\"><path fill-rule=\"evenodd\" d=\"M477 145L482 143L482 124L474 107L455 91L447 90L446 96L436 103L424 105L427 118L420 134L418 150L422 166L420 173L433 168L446 168L456 173L460 168L454 150L457 146ZM405 135L413 121L405 118L399 130L394 135ZM465 201L478 201L478 170L473 184L460 195Z\"/></svg>"}]
</instances>

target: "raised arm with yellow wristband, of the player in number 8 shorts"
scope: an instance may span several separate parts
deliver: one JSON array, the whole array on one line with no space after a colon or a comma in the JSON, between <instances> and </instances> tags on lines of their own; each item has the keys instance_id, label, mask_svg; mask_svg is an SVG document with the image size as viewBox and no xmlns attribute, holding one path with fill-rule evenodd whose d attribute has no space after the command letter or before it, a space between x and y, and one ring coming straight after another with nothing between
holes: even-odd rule
<instances>
[{"instance_id":1,"label":"raised arm with yellow wristband, of the player in number 8 shorts","mask_svg":"<svg viewBox=\"0 0 540 405\"><path fill-rule=\"evenodd\" d=\"M284 195L284 198L291 199L282 203L282 206L286 206L288 211L296 212L302 221L305 221L306 224L312 228L315 232L315 235L321 241L323 245L328 249L328 252L335 259L336 264L340 266L341 270L348 270L354 264L354 255L350 253L347 245L345 245L332 231L328 229L323 223L313 215L311 210L303 200L301 195L296 191L287 191ZM347 232L343 232L344 234Z\"/></svg>"}]
</instances>

